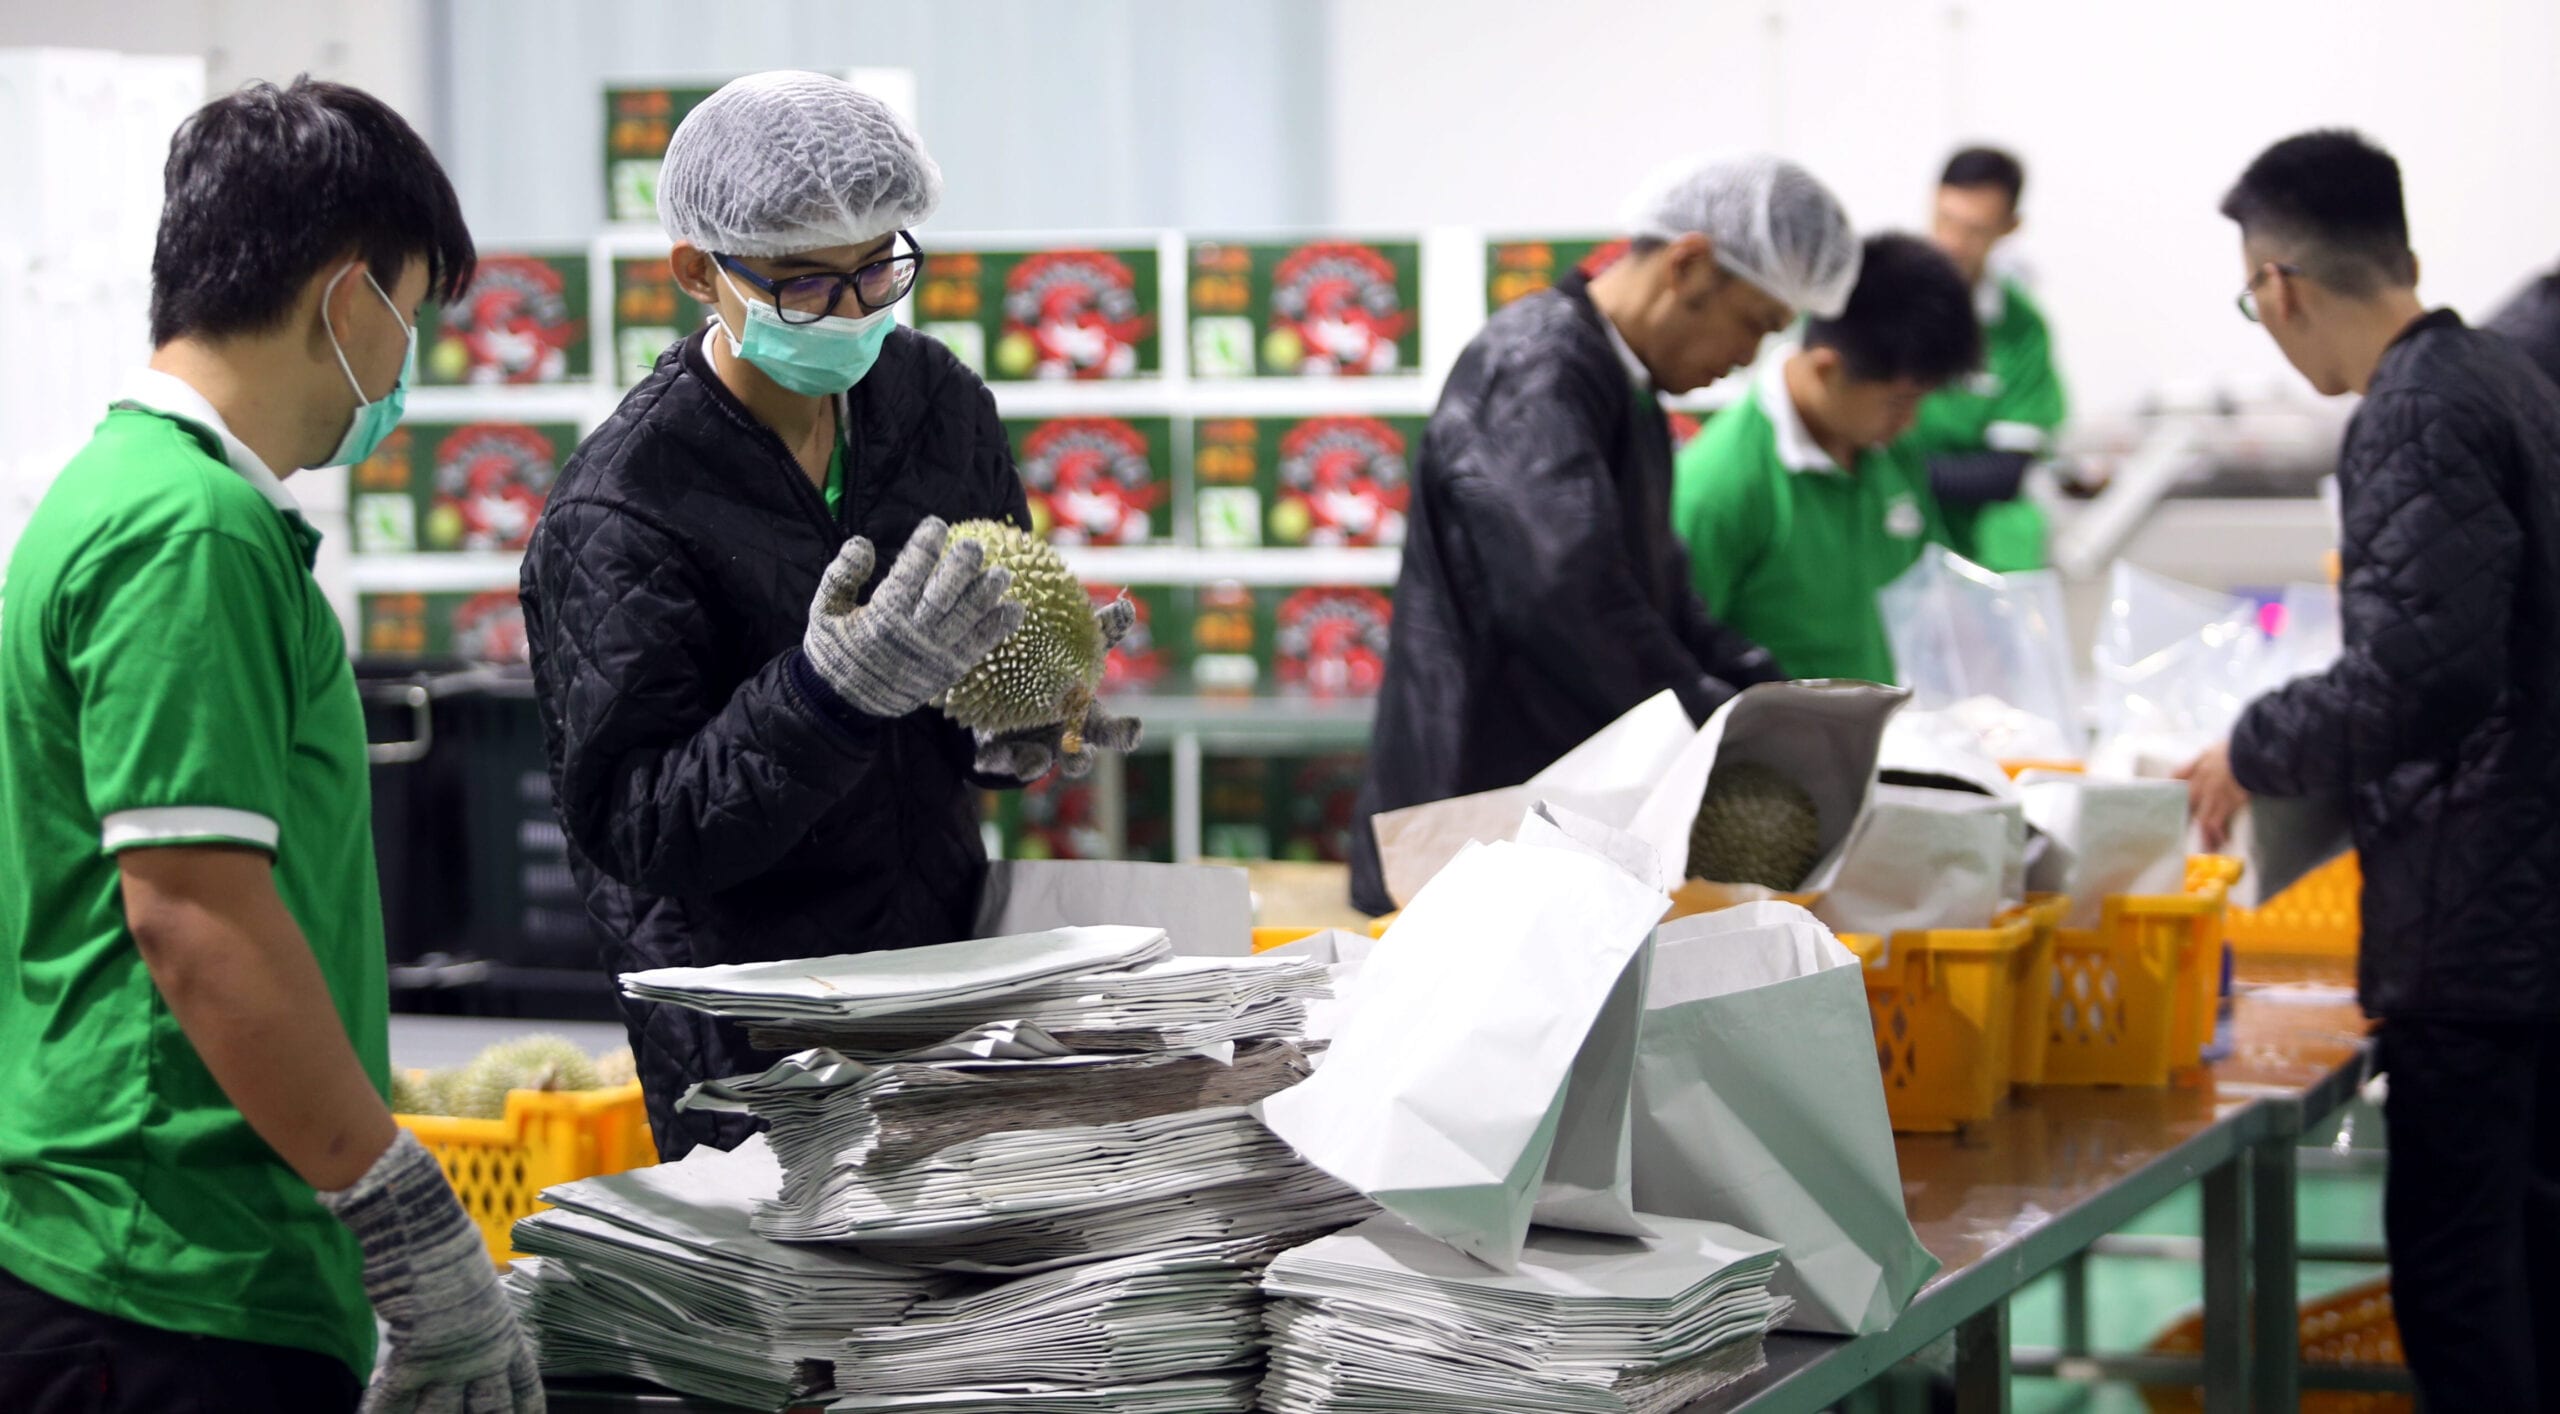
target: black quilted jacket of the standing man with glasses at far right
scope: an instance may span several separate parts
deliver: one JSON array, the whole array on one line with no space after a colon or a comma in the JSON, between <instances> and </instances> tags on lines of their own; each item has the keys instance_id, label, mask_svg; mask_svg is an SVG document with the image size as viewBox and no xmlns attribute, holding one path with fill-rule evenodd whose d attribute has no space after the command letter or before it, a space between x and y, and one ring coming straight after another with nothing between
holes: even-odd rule
<instances>
[{"instance_id":1,"label":"black quilted jacket of the standing man with glasses at far right","mask_svg":"<svg viewBox=\"0 0 2560 1414\"><path fill-rule=\"evenodd\" d=\"M2373 1017L2560 1017L2560 389L2437 310L2337 459L2345 653L2240 717L2232 771L2345 797Z\"/></svg>"}]
</instances>

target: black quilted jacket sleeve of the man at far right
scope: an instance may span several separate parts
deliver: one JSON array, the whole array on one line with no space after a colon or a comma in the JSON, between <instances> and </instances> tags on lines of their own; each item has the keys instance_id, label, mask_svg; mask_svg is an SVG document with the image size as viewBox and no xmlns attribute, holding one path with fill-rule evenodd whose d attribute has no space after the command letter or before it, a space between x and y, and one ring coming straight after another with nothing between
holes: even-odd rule
<instances>
[{"instance_id":1,"label":"black quilted jacket sleeve of the man at far right","mask_svg":"<svg viewBox=\"0 0 2560 1414\"><path fill-rule=\"evenodd\" d=\"M2524 533L2493 433L2427 392L2368 400L2342 459L2340 612L2330 671L2271 692L2232 733L2240 784L2271 797L2342 797L2450 745L2509 676Z\"/></svg>"}]
</instances>

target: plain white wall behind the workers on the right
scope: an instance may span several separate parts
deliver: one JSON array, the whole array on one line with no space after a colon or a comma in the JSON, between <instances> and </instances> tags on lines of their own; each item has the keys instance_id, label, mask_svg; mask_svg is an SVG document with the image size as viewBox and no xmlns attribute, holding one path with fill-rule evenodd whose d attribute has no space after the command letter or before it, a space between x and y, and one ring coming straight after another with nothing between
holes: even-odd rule
<instances>
[{"instance_id":1,"label":"plain white wall behind the workers on the right","mask_svg":"<svg viewBox=\"0 0 2560 1414\"><path fill-rule=\"evenodd\" d=\"M2560 256L2550 0L1331 0L1331 218L1610 225L1684 151L1805 161L1864 228L1920 228L1946 154L2028 164L2020 254L2089 410L2294 392L2232 313L2214 215L2266 143L2350 123L2409 187L2422 292L2486 313Z\"/></svg>"}]
</instances>

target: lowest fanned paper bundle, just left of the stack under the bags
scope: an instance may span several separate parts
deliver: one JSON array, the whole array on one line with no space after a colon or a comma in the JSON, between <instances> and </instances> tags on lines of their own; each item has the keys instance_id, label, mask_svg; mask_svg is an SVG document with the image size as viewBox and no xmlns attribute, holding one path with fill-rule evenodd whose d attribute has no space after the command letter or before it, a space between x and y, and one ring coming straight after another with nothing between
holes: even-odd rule
<instances>
[{"instance_id":1,"label":"lowest fanned paper bundle, just left of the stack under the bags","mask_svg":"<svg viewBox=\"0 0 2560 1414\"><path fill-rule=\"evenodd\" d=\"M860 1329L835 1360L858 1399L996 1401L1019 1388L1126 1388L1254 1370L1262 1363L1262 1258L1175 1247L1060 1268L927 1301L899 1324ZM1252 1383L1244 1386L1252 1406Z\"/></svg>"}]
</instances>

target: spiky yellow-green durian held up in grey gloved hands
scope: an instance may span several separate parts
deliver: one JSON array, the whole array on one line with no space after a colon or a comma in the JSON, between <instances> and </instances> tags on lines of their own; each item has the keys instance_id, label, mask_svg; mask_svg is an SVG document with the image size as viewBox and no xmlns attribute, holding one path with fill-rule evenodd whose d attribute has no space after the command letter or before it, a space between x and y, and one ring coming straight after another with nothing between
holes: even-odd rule
<instances>
[{"instance_id":1,"label":"spiky yellow-green durian held up in grey gloved hands","mask_svg":"<svg viewBox=\"0 0 2560 1414\"><path fill-rule=\"evenodd\" d=\"M1004 592L1024 607L1021 630L996 646L968 671L942 707L950 720L980 733L1021 733L1065 722L1062 748L1083 751L1085 707L1103 681L1103 630L1093 622L1093 599L1068 574L1047 543L1004 520L963 520L952 525L945 553L963 540L986 548L988 569L1014 571Z\"/></svg>"}]
</instances>

